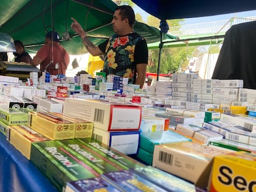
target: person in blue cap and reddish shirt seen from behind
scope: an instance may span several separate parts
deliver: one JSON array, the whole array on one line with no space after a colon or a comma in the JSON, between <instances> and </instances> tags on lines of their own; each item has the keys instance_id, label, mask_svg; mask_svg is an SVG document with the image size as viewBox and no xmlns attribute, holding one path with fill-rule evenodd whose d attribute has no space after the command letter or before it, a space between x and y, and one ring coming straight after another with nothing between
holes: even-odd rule
<instances>
[{"instance_id":1,"label":"person in blue cap and reddish shirt seen from behind","mask_svg":"<svg viewBox=\"0 0 256 192\"><path fill-rule=\"evenodd\" d=\"M36 52L32 65L40 65L41 72L46 71L51 75L66 75L69 61L68 52L59 44L59 34L49 31L45 36L45 45Z\"/></svg>"}]
</instances>

